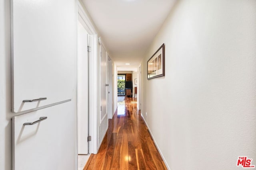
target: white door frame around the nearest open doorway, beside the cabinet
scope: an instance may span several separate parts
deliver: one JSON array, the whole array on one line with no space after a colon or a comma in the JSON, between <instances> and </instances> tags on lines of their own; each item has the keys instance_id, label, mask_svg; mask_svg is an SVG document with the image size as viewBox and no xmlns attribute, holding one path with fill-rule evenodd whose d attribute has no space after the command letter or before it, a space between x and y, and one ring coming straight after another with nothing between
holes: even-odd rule
<instances>
[{"instance_id":1,"label":"white door frame around the nearest open doorway, beside the cabinet","mask_svg":"<svg viewBox=\"0 0 256 170\"><path fill-rule=\"evenodd\" d=\"M90 48L90 55L89 55L89 135L92 137L91 141L89 142L89 153L97 153L97 88L94 88L97 82L97 73L98 73L98 61L97 61L97 41L98 35L96 29L93 27L92 22L88 18L82 4L77 0L77 19L82 21L82 25L88 32L90 36L92 36L92 41L89 43ZM76 108L76 120L78 121L77 115L77 108ZM76 123L77 128L77 123ZM76 148L78 141L78 129L76 129ZM76 149L77 150L77 149ZM76 154L77 155L77 154Z\"/></svg>"}]
</instances>

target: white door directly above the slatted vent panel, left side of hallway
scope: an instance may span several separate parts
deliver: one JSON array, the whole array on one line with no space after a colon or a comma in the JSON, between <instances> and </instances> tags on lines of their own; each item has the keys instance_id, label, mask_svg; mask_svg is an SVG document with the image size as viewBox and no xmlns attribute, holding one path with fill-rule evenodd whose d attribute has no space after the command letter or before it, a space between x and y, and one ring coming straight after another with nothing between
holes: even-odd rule
<instances>
[{"instance_id":1,"label":"white door directly above the slatted vent panel, left side of hallway","mask_svg":"<svg viewBox=\"0 0 256 170\"><path fill-rule=\"evenodd\" d=\"M107 116L107 76L106 49L100 45L100 122Z\"/></svg>"}]
</instances>

